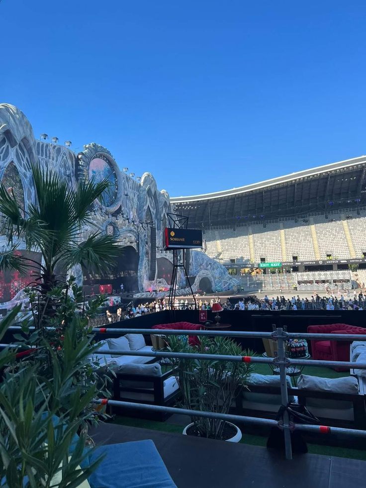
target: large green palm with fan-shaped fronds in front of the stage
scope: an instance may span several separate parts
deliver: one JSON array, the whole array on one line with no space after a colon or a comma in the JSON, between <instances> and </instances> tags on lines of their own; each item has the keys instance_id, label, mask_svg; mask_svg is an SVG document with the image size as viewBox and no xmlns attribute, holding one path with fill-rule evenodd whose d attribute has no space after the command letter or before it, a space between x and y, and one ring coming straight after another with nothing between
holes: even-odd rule
<instances>
[{"instance_id":1,"label":"large green palm with fan-shaped fronds in front of the stage","mask_svg":"<svg viewBox=\"0 0 366 488\"><path fill-rule=\"evenodd\" d=\"M72 188L66 178L33 165L32 177L36 201L28 208L19 207L15 195L0 183L0 234L5 235L8 247L0 253L0 270L15 269L24 272L29 259L15 253L19 240L26 249L42 255L38 290L46 295L60 280L56 270L66 271L74 265L102 273L111 268L121 254L121 247L113 236L91 233L82 242L82 229L93 224L91 209L95 200L101 200L109 186L108 180L79 181ZM31 265L39 269L39 264Z\"/></svg>"}]
</instances>

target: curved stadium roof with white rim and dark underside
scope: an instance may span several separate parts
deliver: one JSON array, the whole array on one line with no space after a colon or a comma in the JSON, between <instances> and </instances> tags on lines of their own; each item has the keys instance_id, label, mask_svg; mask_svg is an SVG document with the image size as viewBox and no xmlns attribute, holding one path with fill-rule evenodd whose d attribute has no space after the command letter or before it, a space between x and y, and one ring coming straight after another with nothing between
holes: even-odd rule
<instances>
[{"instance_id":1,"label":"curved stadium roof with white rim and dark underside","mask_svg":"<svg viewBox=\"0 0 366 488\"><path fill-rule=\"evenodd\" d=\"M171 197L190 227L242 224L337 207L365 205L366 156L203 195Z\"/></svg>"}]
</instances>

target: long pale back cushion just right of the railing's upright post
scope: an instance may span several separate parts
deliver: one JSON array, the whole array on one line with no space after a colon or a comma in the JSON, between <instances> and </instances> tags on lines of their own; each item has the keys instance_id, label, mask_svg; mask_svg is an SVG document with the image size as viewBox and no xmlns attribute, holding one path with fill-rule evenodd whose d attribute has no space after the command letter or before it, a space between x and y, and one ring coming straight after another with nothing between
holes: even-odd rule
<instances>
[{"instance_id":1,"label":"long pale back cushion just right of the railing's upright post","mask_svg":"<svg viewBox=\"0 0 366 488\"><path fill-rule=\"evenodd\" d=\"M297 380L297 388L299 390L357 394L359 392L359 383L352 376L346 378L319 378L318 376L300 375Z\"/></svg>"}]
</instances>

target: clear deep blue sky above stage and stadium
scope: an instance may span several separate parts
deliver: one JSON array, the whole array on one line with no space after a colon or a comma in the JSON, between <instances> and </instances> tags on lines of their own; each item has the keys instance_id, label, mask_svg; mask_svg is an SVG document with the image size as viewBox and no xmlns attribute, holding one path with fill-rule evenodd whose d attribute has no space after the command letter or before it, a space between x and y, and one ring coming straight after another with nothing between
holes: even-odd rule
<instances>
[{"instance_id":1,"label":"clear deep blue sky above stage and stadium","mask_svg":"<svg viewBox=\"0 0 366 488\"><path fill-rule=\"evenodd\" d=\"M0 101L170 195L366 153L366 2L2 0Z\"/></svg>"}]
</instances>

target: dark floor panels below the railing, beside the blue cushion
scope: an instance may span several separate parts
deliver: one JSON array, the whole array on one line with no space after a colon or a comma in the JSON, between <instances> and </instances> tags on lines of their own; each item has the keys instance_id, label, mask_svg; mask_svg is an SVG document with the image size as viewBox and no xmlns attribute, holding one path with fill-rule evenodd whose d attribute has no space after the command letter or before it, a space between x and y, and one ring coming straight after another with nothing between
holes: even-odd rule
<instances>
[{"instance_id":1,"label":"dark floor panels below the railing, beside the blue cushion","mask_svg":"<svg viewBox=\"0 0 366 488\"><path fill-rule=\"evenodd\" d=\"M91 435L96 444L152 439L178 488L365 486L366 461L317 454L286 461L281 453L263 447L112 423L100 424Z\"/></svg>"}]
</instances>

